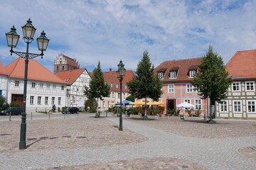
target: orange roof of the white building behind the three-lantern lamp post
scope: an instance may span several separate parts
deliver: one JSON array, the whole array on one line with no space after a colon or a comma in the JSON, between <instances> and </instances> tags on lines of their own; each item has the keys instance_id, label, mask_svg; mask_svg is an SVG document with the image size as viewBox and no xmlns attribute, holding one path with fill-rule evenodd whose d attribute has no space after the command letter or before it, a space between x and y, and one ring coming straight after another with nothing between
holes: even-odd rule
<instances>
[{"instance_id":1,"label":"orange roof of the white building behind the three-lantern lamp post","mask_svg":"<svg viewBox=\"0 0 256 170\"><path fill-rule=\"evenodd\" d=\"M6 65L5 68L10 77L24 79L25 59L18 57L14 62ZM28 79L65 84L65 81L55 76L36 60L28 60Z\"/></svg>"}]
</instances>

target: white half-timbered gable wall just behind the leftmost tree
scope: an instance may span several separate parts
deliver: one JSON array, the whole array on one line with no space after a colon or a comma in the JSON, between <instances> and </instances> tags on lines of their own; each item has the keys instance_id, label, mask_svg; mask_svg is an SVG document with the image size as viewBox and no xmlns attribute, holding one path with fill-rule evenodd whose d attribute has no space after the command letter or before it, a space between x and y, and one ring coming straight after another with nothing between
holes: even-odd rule
<instances>
[{"instance_id":1,"label":"white half-timbered gable wall just behind the leftmost tree","mask_svg":"<svg viewBox=\"0 0 256 170\"><path fill-rule=\"evenodd\" d=\"M73 84L67 86L68 100L66 106L78 107L84 109L87 97L84 95L85 86L89 86L90 76L85 70L80 74L80 77L74 81Z\"/></svg>"}]
</instances>

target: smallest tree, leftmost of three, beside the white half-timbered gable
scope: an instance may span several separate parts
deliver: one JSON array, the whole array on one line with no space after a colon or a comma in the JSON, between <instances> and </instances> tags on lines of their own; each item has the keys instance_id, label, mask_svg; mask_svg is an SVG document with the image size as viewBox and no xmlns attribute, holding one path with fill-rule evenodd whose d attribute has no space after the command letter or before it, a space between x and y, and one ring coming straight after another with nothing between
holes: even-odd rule
<instances>
[{"instance_id":1,"label":"smallest tree, leftmost of three, beside the white half-timbered gable","mask_svg":"<svg viewBox=\"0 0 256 170\"><path fill-rule=\"evenodd\" d=\"M100 68L100 61L97 64L97 68L95 68L92 72L92 79L89 83L89 87L85 86L84 94L89 99L97 98L97 103L99 102L99 98L103 101L104 97L110 96L110 85L104 81L104 75L102 73L102 69ZM97 107L96 117L98 116L99 109Z\"/></svg>"}]
</instances>

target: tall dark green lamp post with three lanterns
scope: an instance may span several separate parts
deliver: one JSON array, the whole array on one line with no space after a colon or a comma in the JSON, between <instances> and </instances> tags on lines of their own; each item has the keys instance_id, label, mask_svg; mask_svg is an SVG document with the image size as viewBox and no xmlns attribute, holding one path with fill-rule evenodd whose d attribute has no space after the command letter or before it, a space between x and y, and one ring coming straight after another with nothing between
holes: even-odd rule
<instances>
[{"instance_id":1,"label":"tall dark green lamp post with three lanterns","mask_svg":"<svg viewBox=\"0 0 256 170\"><path fill-rule=\"evenodd\" d=\"M28 81L28 59L33 59L35 57L41 56L43 58L43 51L46 51L49 39L46 38L46 33L44 31L41 36L36 39L38 43L38 50L41 54L28 53L28 46L33 41L33 35L36 33L36 28L33 27L32 21L29 18L26 25L22 26L23 40L26 42L26 52L16 52L13 50L16 47L19 39L19 35L16 33L16 28L13 26L9 33L6 33L7 45L11 47L12 53L18 55L19 57L25 58L25 74L24 74L24 89L23 89L23 112L21 113L21 135L19 142L19 149L26 149L26 90Z\"/></svg>"}]
</instances>

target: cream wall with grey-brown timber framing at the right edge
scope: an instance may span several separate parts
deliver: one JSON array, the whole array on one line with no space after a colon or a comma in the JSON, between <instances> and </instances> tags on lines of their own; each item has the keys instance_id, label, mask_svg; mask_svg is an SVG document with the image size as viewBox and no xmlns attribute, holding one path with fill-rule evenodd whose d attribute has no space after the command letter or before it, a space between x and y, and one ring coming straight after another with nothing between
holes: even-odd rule
<instances>
[{"instance_id":1,"label":"cream wall with grey-brown timber framing at the right edge","mask_svg":"<svg viewBox=\"0 0 256 170\"><path fill-rule=\"evenodd\" d=\"M253 82L254 90L247 91L246 82ZM228 88L228 98L223 101L227 102L227 111L221 109L221 103L216 103L216 111L218 118L256 118L256 111L250 111L248 107L248 102L254 102L254 107L256 106L256 92L255 92L255 80L242 80L234 81L233 83L240 83L240 90L234 91L233 85ZM235 103L240 102L241 111L235 109Z\"/></svg>"}]
</instances>

